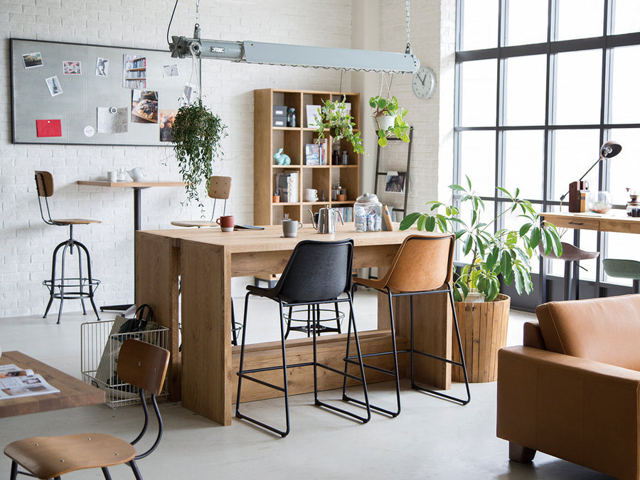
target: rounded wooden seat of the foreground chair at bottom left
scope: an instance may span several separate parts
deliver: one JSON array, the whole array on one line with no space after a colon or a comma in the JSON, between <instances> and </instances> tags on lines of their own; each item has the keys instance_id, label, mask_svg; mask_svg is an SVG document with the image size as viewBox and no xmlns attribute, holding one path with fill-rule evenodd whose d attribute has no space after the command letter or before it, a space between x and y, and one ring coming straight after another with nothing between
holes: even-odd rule
<instances>
[{"instance_id":1,"label":"rounded wooden seat of the foreground chair at bottom left","mask_svg":"<svg viewBox=\"0 0 640 480\"><path fill-rule=\"evenodd\" d=\"M125 464L136 449L111 435L80 433L18 440L7 445L4 454L38 479L53 479L70 471Z\"/></svg>"}]
</instances>

